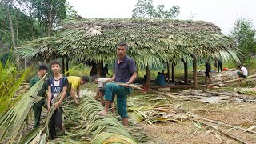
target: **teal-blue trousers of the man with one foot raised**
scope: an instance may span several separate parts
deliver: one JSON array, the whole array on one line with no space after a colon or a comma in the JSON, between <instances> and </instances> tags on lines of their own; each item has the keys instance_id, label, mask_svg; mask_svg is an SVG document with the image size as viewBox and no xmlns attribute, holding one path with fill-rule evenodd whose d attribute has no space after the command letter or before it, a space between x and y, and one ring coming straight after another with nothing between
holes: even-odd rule
<instances>
[{"instance_id":1,"label":"teal-blue trousers of the man with one foot raised","mask_svg":"<svg viewBox=\"0 0 256 144\"><path fill-rule=\"evenodd\" d=\"M119 86L115 83L107 83L104 98L106 101L112 101L113 95L117 95L118 114L121 118L128 118L126 97L130 94L131 88Z\"/></svg>"}]
</instances>

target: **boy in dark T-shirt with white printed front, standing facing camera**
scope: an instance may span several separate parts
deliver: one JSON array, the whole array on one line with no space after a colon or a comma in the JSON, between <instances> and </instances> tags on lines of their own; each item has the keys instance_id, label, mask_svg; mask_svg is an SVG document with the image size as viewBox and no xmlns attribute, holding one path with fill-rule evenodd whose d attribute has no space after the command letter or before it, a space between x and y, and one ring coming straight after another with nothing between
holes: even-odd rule
<instances>
[{"instance_id":1,"label":"boy in dark T-shirt with white printed front, standing facing camera","mask_svg":"<svg viewBox=\"0 0 256 144\"><path fill-rule=\"evenodd\" d=\"M66 96L66 90L69 86L69 83L67 81L66 77L63 77L62 74L60 74L61 65L57 61L53 61L50 64L51 70L53 71L53 76L50 77L47 81L48 84L48 93L47 93L47 109L50 111L50 106L54 106L54 114L50 118L50 136L51 138L56 137L56 129L55 125L60 127L62 131L65 130L64 125L62 123L62 113L63 109L61 106L63 99ZM55 102L55 99L57 98L58 94L62 95L58 102Z\"/></svg>"}]
</instances>

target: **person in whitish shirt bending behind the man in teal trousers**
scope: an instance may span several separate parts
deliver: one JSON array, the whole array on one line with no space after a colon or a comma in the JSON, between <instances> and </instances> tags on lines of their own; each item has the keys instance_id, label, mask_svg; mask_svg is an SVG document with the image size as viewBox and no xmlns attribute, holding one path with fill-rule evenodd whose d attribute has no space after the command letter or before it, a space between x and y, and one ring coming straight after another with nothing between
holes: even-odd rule
<instances>
[{"instance_id":1,"label":"person in whitish shirt bending behind the man in teal trousers","mask_svg":"<svg viewBox=\"0 0 256 144\"><path fill-rule=\"evenodd\" d=\"M97 89L97 94L95 96L95 99L97 100L100 97L102 106L104 105L103 95L105 94L105 84L109 80L110 80L110 78L98 78L98 77L92 78L92 81L95 84L98 84L98 89ZM114 97L113 97L112 101L110 102L110 106L111 106L112 113L115 114Z\"/></svg>"}]
</instances>

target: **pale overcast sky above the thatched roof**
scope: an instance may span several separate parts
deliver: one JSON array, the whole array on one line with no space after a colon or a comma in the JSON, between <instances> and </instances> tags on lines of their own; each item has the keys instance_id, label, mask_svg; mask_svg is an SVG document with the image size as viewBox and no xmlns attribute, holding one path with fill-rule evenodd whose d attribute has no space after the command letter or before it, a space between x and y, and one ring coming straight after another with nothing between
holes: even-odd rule
<instances>
[{"instance_id":1,"label":"pale overcast sky above the thatched roof","mask_svg":"<svg viewBox=\"0 0 256 144\"><path fill-rule=\"evenodd\" d=\"M67 0L84 18L130 18L138 0ZM180 6L178 19L213 22L230 34L238 18L252 20L256 28L255 0L153 0L154 6Z\"/></svg>"}]
</instances>

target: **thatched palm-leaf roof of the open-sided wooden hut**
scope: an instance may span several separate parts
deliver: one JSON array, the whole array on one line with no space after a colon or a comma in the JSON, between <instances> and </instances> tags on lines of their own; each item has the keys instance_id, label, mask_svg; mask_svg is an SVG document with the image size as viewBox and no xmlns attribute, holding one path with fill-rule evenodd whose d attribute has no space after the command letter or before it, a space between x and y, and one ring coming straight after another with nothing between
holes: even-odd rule
<instances>
[{"instance_id":1,"label":"thatched palm-leaf roof of the open-sided wooden hut","mask_svg":"<svg viewBox=\"0 0 256 144\"><path fill-rule=\"evenodd\" d=\"M140 66L161 65L170 60L221 54L237 58L234 40L221 33L218 26L203 21L145 18L84 18L62 22L50 38L26 42L21 55L54 57L66 55L74 62L113 62L116 43L125 41L128 55ZM47 51L49 50L49 51ZM55 54L52 55L54 50Z\"/></svg>"}]
</instances>

